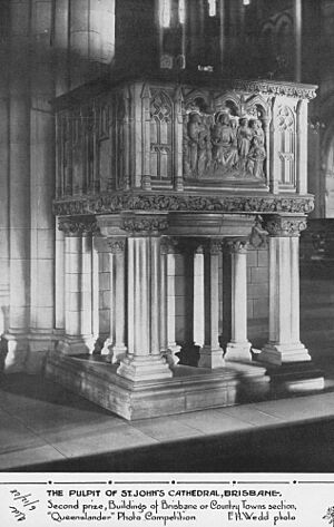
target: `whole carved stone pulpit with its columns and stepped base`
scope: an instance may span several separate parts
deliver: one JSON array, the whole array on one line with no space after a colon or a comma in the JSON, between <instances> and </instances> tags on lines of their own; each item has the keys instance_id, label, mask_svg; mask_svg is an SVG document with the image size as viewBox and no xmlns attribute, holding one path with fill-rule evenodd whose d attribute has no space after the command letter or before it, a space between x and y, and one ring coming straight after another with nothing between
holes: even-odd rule
<instances>
[{"instance_id":1,"label":"whole carved stone pulpit with its columns and stepped base","mask_svg":"<svg viewBox=\"0 0 334 527\"><path fill-rule=\"evenodd\" d=\"M315 87L144 77L56 100L58 343L47 374L127 419L233 404L268 390L273 369L311 360L298 241L313 209ZM247 334L256 243L268 247L262 350Z\"/></svg>"}]
</instances>

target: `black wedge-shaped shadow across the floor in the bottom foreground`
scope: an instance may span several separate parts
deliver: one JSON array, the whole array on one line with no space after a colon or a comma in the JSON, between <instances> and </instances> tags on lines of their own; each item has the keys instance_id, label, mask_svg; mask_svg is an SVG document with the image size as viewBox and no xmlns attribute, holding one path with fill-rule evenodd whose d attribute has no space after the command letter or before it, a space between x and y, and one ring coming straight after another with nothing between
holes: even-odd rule
<instances>
[{"instance_id":1,"label":"black wedge-shaped shadow across the floor in the bottom foreground","mask_svg":"<svg viewBox=\"0 0 334 527\"><path fill-rule=\"evenodd\" d=\"M18 467L70 472L334 472L334 419Z\"/></svg>"}]
</instances>

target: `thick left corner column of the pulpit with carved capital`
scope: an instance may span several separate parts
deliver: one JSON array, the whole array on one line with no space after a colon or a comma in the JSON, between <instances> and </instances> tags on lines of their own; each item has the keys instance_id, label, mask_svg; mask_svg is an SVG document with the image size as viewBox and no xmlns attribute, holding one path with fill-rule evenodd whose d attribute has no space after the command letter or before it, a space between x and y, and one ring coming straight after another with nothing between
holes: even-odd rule
<instances>
[{"instance_id":1,"label":"thick left corner column of the pulpit with carved capital","mask_svg":"<svg viewBox=\"0 0 334 527\"><path fill-rule=\"evenodd\" d=\"M68 354L91 352L92 270L91 234L95 223L60 218L65 233L65 338L58 351Z\"/></svg>"}]
</instances>

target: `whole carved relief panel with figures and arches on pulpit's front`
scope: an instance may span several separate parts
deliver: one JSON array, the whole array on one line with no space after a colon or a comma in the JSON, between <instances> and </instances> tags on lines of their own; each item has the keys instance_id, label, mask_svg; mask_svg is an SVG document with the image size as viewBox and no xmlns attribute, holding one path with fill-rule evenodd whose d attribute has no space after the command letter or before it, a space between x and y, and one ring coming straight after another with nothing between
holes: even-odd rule
<instances>
[{"instance_id":1,"label":"whole carved relief panel with figures and arches on pulpit's front","mask_svg":"<svg viewBox=\"0 0 334 527\"><path fill-rule=\"evenodd\" d=\"M265 183L267 124L259 96L190 95L184 106L184 177Z\"/></svg>"}]
</instances>

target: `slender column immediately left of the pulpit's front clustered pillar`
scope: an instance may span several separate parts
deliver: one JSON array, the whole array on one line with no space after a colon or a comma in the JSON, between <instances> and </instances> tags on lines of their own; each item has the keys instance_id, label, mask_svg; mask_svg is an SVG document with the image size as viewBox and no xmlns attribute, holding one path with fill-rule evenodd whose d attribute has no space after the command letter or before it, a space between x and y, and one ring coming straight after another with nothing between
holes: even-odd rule
<instances>
[{"instance_id":1,"label":"slender column immediately left of the pulpit's front clustered pillar","mask_svg":"<svg viewBox=\"0 0 334 527\"><path fill-rule=\"evenodd\" d=\"M126 347L126 269L125 269L125 238L108 238L110 250L110 360L119 362L127 352Z\"/></svg>"}]
</instances>

